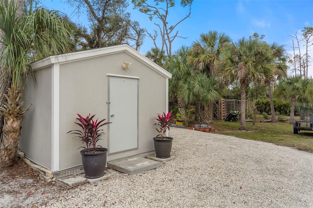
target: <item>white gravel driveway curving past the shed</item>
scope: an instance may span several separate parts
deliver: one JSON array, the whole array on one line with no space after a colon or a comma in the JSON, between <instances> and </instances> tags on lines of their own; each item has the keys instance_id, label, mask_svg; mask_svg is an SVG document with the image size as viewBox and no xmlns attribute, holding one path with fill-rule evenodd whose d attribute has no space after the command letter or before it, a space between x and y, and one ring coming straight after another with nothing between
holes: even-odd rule
<instances>
[{"instance_id":1,"label":"white gravel driveway curving past the shed","mask_svg":"<svg viewBox=\"0 0 313 208\"><path fill-rule=\"evenodd\" d=\"M171 128L174 160L56 193L49 208L313 207L313 154Z\"/></svg>"}]
</instances>

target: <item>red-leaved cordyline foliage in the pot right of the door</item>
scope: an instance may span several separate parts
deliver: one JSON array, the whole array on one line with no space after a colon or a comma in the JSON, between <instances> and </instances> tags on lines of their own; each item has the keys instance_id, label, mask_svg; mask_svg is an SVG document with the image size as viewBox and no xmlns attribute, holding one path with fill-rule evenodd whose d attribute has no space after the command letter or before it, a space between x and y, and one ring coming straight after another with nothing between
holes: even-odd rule
<instances>
[{"instance_id":1,"label":"red-leaved cordyline foliage in the pot right of the door","mask_svg":"<svg viewBox=\"0 0 313 208\"><path fill-rule=\"evenodd\" d=\"M156 137L161 136L161 139L165 139L166 130L170 130L171 121L176 121L177 119L172 116L172 110L165 114L157 114L156 118L151 118L152 120L156 120L157 125L156 131L159 133Z\"/></svg>"}]
</instances>

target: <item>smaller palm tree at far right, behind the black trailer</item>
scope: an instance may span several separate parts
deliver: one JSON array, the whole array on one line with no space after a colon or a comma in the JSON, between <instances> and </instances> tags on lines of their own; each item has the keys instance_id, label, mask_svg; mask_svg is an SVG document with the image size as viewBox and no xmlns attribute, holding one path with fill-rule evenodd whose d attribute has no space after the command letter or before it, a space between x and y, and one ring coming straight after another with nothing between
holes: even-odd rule
<instances>
[{"instance_id":1,"label":"smaller palm tree at far right, behind the black trailer","mask_svg":"<svg viewBox=\"0 0 313 208\"><path fill-rule=\"evenodd\" d=\"M277 97L290 100L290 121L294 123L294 109L296 102L312 101L313 82L302 76L285 77L279 81L274 90Z\"/></svg>"}]
</instances>

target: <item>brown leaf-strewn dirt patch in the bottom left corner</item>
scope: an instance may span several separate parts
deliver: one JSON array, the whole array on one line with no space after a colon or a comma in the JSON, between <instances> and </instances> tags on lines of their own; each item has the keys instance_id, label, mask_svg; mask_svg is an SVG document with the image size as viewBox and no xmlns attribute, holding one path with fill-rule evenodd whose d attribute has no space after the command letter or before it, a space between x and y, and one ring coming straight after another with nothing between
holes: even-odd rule
<instances>
[{"instance_id":1,"label":"brown leaf-strewn dirt patch in the bottom left corner","mask_svg":"<svg viewBox=\"0 0 313 208\"><path fill-rule=\"evenodd\" d=\"M36 208L44 206L66 188L41 180L21 158L0 169L0 208Z\"/></svg>"}]
</instances>

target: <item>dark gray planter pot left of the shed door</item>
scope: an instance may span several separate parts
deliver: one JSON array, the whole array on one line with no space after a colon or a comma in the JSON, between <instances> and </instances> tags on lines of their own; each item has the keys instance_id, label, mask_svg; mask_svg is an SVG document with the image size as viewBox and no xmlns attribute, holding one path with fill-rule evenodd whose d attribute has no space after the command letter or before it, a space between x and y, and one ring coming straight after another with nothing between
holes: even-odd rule
<instances>
[{"instance_id":1,"label":"dark gray planter pot left of the shed door","mask_svg":"<svg viewBox=\"0 0 313 208\"><path fill-rule=\"evenodd\" d=\"M108 149L97 147L96 150L99 152L87 153L87 149L80 151L86 178L100 178L104 176Z\"/></svg>"}]
</instances>

